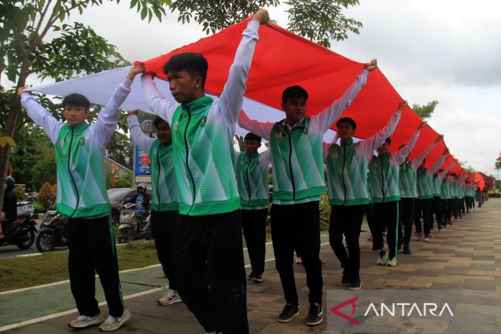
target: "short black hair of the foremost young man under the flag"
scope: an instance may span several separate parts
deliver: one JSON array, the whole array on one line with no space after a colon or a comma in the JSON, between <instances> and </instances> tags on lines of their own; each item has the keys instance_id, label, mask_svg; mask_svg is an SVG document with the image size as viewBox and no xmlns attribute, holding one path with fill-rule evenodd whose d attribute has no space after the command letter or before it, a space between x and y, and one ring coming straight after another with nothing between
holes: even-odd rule
<instances>
[{"instance_id":1,"label":"short black hair of the foremost young man under the flag","mask_svg":"<svg viewBox=\"0 0 501 334\"><path fill-rule=\"evenodd\" d=\"M183 52L172 56L165 66L163 72L167 75L178 71L187 71L191 77L202 77L202 88L205 88L205 80L207 79L207 69L209 63L207 59L200 53Z\"/></svg>"}]
</instances>

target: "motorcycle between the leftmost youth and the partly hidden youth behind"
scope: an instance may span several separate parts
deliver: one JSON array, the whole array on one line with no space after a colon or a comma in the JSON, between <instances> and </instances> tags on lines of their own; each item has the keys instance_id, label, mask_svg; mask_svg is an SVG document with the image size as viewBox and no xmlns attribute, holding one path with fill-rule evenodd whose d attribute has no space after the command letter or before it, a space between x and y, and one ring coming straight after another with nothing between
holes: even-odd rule
<instances>
[{"instance_id":1,"label":"motorcycle between the leftmost youth and the partly hidden youth behind","mask_svg":"<svg viewBox=\"0 0 501 334\"><path fill-rule=\"evenodd\" d=\"M137 213L137 204L124 204L120 211L117 239L119 243L124 243L139 239L152 239L150 227L150 213L143 211Z\"/></svg>"}]
</instances>

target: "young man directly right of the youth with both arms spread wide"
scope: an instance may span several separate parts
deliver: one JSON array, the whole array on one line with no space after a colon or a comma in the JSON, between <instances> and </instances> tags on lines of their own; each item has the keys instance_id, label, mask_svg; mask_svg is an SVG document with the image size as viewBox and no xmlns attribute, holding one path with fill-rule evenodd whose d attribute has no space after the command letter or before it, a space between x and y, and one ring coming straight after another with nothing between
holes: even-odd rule
<instances>
[{"instance_id":1,"label":"young man directly right of the youth with both arms spread wide","mask_svg":"<svg viewBox=\"0 0 501 334\"><path fill-rule=\"evenodd\" d=\"M327 193L331 205L329 225L329 243L338 257L342 272L341 283L348 285L350 290L359 290L360 281L360 228L366 206L371 202L369 195L367 165L376 147L380 146L388 136L391 136L401 117L401 110L407 104L401 104L393 113L390 121L374 136L353 142L356 123L349 117L343 117L336 123L338 133L336 139L341 139L337 145L323 144L323 156L327 169ZM372 225L370 225L372 226ZM346 238L348 252L342 243Z\"/></svg>"}]
</instances>

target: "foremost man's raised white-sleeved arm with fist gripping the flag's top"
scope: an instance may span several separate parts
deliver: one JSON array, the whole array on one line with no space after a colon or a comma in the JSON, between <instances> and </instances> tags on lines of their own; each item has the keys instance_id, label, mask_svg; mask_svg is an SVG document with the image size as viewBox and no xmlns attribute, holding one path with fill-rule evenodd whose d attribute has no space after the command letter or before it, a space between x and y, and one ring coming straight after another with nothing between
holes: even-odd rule
<instances>
[{"instance_id":1,"label":"foremost man's raised white-sleeved arm with fist gripping the flag's top","mask_svg":"<svg viewBox=\"0 0 501 334\"><path fill-rule=\"evenodd\" d=\"M235 60L233 60L230 67L228 80L224 84L220 98L215 102L216 112L219 112L220 117L224 119L228 126L237 123L238 114L242 110L248 70L250 69L250 63L253 61L256 42L259 39L257 30L259 30L259 25L266 24L268 21L270 21L268 11L263 9L258 10L253 19L248 21L247 28L242 33L242 40L235 53Z\"/></svg>"}]
</instances>

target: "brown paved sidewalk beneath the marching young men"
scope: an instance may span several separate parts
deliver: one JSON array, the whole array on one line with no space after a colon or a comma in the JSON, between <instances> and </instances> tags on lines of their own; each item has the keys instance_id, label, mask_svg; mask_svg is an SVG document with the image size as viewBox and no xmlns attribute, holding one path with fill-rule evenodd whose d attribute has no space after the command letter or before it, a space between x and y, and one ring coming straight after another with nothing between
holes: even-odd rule
<instances>
[{"instance_id":1,"label":"brown paved sidewalk beneath the marching young men","mask_svg":"<svg viewBox=\"0 0 501 334\"><path fill-rule=\"evenodd\" d=\"M459 222L439 232L434 232L430 243L411 241L412 254L399 254L397 267L375 265L377 252L372 252L371 243L366 241L367 232L360 237L364 290L369 289L455 289L501 291L501 200L491 200L475 213L465 215ZM325 241L325 237L323 238ZM324 262L324 291L346 289L340 285L341 268L329 245L321 248ZM248 318L251 333L327 333L325 321L317 327L305 326L307 315L307 287L301 265L294 265L296 285L299 289L300 315L288 324L275 320L284 300L275 263L266 263L264 282L248 285ZM159 272L159 270L157 270ZM247 270L249 271L249 270ZM132 274L132 273L130 273ZM121 275L124 280L125 276ZM154 280L154 278L153 278ZM203 333L202 327L183 304L167 307L156 305L156 299L163 291L143 292L142 296L126 300L132 311L132 319L117 333ZM324 294L324 299L327 294ZM36 308L37 298L32 298ZM461 311L475 311L492 315L501 329L501 300L482 304L480 298L465 298ZM487 300L487 299L486 299ZM15 302L15 300L12 300ZM327 302L324 300L324 305ZM107 313L107 308L102 307ZM328 310L324 309L326 313ZM4 313L0 313L3 318ZM75 313L62 315L9 329L5 333L69 333L67 322ZM97 333L96 327L78 333ZM497 333L501 333L498 331Z\"/></svg>"}]
</instances>

